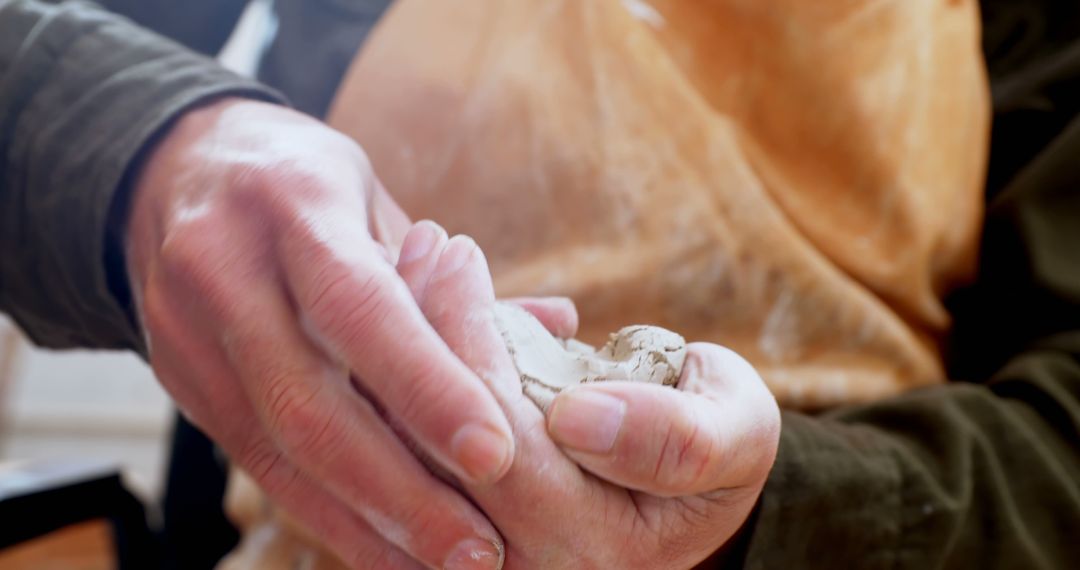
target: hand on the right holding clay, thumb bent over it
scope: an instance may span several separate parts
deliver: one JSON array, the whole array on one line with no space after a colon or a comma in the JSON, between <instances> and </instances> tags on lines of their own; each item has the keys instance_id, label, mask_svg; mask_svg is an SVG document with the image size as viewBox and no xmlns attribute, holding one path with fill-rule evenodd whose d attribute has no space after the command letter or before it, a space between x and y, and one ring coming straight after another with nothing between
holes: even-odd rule
<instances>
[{"instance_id":1,"label":"hand on the right holding clay, thumb bent over it","mask_svg":"<svg viewBox=\"0 0 1080 570\"><path fill-rule=\"evenodd\" d=\"M734 535L780 434L775 401L750 364L691 344L678 390L583 385L564 391L544 418L522 394L495 327L480 248L468 238L447 241L430 222L410 230L406 247L423 232L438 243L400 262L399 273L440 336L488 383L515 437L502 479L462 486L502 533L507 568L690 568ZM459 268L446 271L455 260Z\"/></svg>"}]
</instances>

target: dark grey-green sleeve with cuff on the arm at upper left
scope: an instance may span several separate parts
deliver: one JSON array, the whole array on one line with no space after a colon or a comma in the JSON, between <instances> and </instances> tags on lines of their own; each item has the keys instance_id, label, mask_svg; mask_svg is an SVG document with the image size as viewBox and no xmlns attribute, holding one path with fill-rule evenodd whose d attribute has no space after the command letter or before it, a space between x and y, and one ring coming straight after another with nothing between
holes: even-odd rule
<instances>
[{"instance_id":1,"label":"dark grey-green sleeve with cuff on the arm at upper left","mask_svg":"<svg viewBox=\"0 0 1080 570\"><path fill-rule=\"evenodd\" d=\"M0 311L33 341L141 347L113 294L124 177L175 117L224 95L278 99L92 4L0 0Z\"/></svg>"}]
</instances>

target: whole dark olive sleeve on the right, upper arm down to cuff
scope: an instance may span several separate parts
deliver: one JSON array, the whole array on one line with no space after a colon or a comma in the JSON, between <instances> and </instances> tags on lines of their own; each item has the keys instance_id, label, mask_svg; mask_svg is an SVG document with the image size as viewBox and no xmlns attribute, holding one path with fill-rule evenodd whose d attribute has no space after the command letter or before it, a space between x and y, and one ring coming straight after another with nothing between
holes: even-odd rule
<instances>
[{"instance_id":1,"label":"whole dark olive sleeve on the right, upper arm down to cuff","mask_svg":"<svg viewBox=\"0 0 1080 570\"><path fill-rule=\"evenodd\" d=\"M1080 568L1080 14L1052 15L1078 5L984 3L1007 21L981 270L950 300L959 381L785 413L732 566Z\"/></svg>"}]
</instances>

